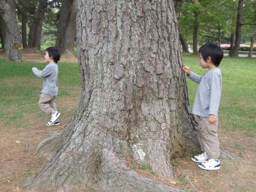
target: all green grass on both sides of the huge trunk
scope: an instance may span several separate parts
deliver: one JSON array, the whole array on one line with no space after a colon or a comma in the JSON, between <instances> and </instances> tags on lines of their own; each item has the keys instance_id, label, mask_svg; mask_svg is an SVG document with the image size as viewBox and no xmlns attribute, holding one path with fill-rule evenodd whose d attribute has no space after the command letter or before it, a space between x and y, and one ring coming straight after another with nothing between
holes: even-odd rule
<instances>
[{"instance_id":1,"label":"all green grass on both sides of the huge trunk","mask_svg":"<svg viewBox=\"0 0 256 192\"><path fill-rule=\"evenodd\" d=\"M206 73L195 55L184 55L183 63L198 74ZM28 113L43 117L37 102L43 79L31 72L36 66L43 69L43 63L12 63L0 58L0 125L26 127ZM80 75L78 64L59 63L58 98L79 97ZM219 119L222 129L246 130L247 137L255 137L256 130L256 75L255 58L228 58L220 63L223 74L223 95ZM198 85L187 79L191 106ZM58 102L58 100L57 100ZM24 119L24 120L22 120ZM21 123L22 122L22 123Z\"/></svg>"}]
</instances>

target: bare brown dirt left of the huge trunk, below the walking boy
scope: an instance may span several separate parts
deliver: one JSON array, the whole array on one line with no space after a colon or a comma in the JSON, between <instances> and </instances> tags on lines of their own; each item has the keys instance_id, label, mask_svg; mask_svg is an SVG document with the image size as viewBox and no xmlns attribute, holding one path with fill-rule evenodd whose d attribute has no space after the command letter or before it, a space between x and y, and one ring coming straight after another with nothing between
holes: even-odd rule
<instances>
[{"instance_id":1,"label":"bare brown dirt left of the huge trunk, below the walking boy","mask_svg":"<svg viewBox=\"0 0 256 192\"><path fill-rule=\"evenodd\" d=\"M43 115L43 117L36 116L33 119L26 119L26 121L32 122L32 127L1 127L0 192L22 191L23 178L31 176L47 164L46 159L36 152L36 147L53 132L62 131L73 116L78 102L79 97L60 97L58 99L58 106L62 108L61 112L63 113L59 126L46 126L44 122L48 120L48 116ZM29 115L33 116L33 114Z\"/></svg>"}]
</instances>

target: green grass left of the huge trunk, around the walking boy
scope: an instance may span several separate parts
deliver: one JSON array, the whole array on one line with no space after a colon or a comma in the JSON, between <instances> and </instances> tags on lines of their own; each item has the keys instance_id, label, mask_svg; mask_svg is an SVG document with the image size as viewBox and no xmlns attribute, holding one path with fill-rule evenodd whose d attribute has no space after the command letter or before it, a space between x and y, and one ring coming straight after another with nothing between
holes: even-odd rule
<instances>
[{"instance_id":1,"label":"green grass left of the huge trunk, around the walking boy","mask_svg":"<svg viewBox=\"0 0 256 192\"><path fill-rule=\"evenodd\" d=\"M0 58L1 128L29 127L35 124L30 119L42 119L46 116L37 105L43 78L37 78L31 71L32 67L42 70L45 66L42 63L13 63ZM63 97L79 97L78 64L59 63L58 66L58 100Z\"/></svg>"}]
</instances>

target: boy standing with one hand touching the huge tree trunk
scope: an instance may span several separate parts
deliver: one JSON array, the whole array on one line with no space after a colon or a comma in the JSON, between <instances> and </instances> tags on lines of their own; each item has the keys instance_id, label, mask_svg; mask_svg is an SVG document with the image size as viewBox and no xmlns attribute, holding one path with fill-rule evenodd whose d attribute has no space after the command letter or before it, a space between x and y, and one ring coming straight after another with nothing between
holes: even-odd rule
<instances>
[{"instance_id":1,"label":"boy standing with one hand touching the huge tree trunk","mask_svg":"<svg viewBox=\"0 0 256 192\"><path fill-rule=\"evenodd\" d=\"M223 58L223 50L214 43L206 43L198 52L200 65L202 68L208 68L208 72L197 75L188 66L183 67L188 78L199 83L192 112L198 122L198 141L203 153L193 156L191 160L199 163L201 169L219 170L218 108L222 80L218 65Z\"/></svg>"}]
</instances>

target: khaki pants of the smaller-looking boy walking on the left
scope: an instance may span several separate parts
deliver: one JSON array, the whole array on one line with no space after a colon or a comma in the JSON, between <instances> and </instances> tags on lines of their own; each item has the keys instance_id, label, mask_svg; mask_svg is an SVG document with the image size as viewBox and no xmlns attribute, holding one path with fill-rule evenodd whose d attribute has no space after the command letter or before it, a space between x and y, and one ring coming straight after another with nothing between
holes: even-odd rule
<instances>
[{"instance_id":1,"label":"khaki pants of the smaller-looking boy walking on the left","mask_svg":"<svg viewBox=\"0 0 256 192\"><path fill-rule=\"evenodd\" d=\"M43 112L47 114L51 114L57 110L56 103L55 103L56 96L46 95L41 93L38 106Z\"/></svg>"}]
</instances>

